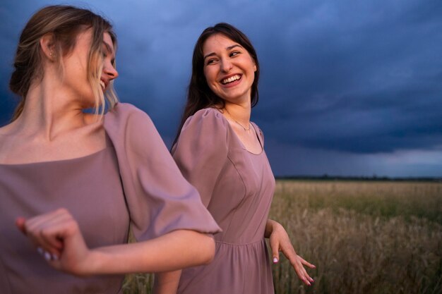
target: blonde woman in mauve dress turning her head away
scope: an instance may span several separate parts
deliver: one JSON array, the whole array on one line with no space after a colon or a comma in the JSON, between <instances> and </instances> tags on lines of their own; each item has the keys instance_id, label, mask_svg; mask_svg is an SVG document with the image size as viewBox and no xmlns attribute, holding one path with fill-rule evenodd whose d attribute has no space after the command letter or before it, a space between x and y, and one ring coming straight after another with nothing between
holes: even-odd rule
<instances>
[{"instance_id":1,"label":"blonde woman in mauve dress turning her head away","mask_svg":"<svg viewBox=\"0 0 442 294\"><path fill-rule=\"evenodd\" d=\"M1 293L121 293L125 273L213 257L198 192L150 118L112 95L115 48L107 20L72 6L42 8L20 36L22 101L0 128Z\"/></svg>"}]
</instances>

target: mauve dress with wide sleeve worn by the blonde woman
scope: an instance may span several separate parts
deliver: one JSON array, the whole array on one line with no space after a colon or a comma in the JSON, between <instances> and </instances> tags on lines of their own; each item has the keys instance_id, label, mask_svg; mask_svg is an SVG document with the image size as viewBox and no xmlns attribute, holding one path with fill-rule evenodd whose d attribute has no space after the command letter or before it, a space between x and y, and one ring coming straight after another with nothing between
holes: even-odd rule
<instances>
[{"instance_id":1,"label":"mauve dress with wide sleeve worn by the blonde woman","mask_svg":"<svg viewBox=\"0 0 442 294\"><path fill-rule=\"evenodd\" d=\"M18 231L18 216L65 207L91 248L177 229L217 233L143 111L117 104L104 116L107 147L77 159L0 164L0 293L122 293L124 275L80 278L56 271Z\"/></svg>"}]
</instances>

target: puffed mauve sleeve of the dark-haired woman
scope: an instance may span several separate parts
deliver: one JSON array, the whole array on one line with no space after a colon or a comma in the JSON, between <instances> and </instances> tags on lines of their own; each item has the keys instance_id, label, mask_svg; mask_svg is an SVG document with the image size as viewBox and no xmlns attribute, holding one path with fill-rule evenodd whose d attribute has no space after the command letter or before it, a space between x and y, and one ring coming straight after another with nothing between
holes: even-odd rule
<instances>
[{"instance_id":1,"label":"puffed mauve sleeve of the dark-haired woman","mask_svg":"<svg viewBox=\"0 0 442 294\"><path fill-rule=\"evenodd\" d=\"M181 173L196 187L205 207L227 162L227 123L220 111L201 109L184 123L172 149Z\"/></svg>"}]
</instances>

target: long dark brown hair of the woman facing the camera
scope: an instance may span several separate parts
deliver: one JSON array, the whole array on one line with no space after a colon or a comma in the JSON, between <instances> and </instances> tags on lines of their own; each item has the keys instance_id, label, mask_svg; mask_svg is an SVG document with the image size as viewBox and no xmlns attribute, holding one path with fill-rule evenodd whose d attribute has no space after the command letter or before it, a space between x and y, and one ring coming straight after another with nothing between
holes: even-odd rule
<instances>
[{"instance_id":1,"label":"long dark brown hair of the woman facing the camera","mask_svg":"<svg viewBox=\"0 0 442 294\"><path fill-rule=\"evenodd\" d=\"M186 106L184 106L184 112L181 116L181 123L179 124L178 133L175 137L174 144L177 142L181 128L189 116L193 116L196 111L207 107L217 107L222 109L225 106L224 100L210 90L204 75L204 43L210 36L216 34L225 35L229 39L232 39L232 41L240 44L249 52L250 56L255 61L256 71L253 84L251 85L251 106L253 107L258 103L259 63L258 56L256 55L256 51L253 48L249 38L247 38L243 32L238 30L233 25L229 25L228 23L217 23L213 27L208 27L203 30L200 37L196 41L195 48L193 49L192 75L187 90L187 102Z\"/></svg>"}]
</instances>

